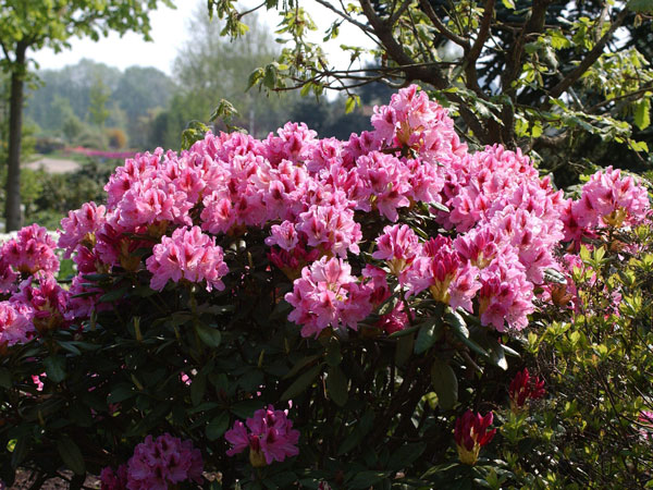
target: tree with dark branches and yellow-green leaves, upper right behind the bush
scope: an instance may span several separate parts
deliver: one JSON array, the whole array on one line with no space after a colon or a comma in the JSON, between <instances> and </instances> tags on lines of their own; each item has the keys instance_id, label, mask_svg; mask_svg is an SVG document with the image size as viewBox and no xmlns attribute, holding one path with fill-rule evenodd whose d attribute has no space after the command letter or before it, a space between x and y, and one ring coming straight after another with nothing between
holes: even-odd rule
<instances>
[{"instance_id":1,"label":"tree with dark branches and yellow-green leaves, upper right behind the bush","mask_svg":"<svg viewBox=\"0 0 653 490\"><path fill-rule=\"evenodd\" d=\"M373 57L365 70L336 69L320 44L305 3L264 2L278 9L285 48L274 63L252 73L250 84L269 90L326 88L349 95L370 82L419 82L459 115L468 139L485 145L562 154L590 142L648 150L653 70L650 1L599 0L317 0L335 21L323 33L336 38L350 24L374 47L342 45L352 60ZM300 7L301 5L301 7ZM247 11L229 0L209 0L226 19L231 36L246 32ZM580 159L580 156L578 156ZM639 157L643 159L643 156Z\"/></svg>"}]
</instances>

